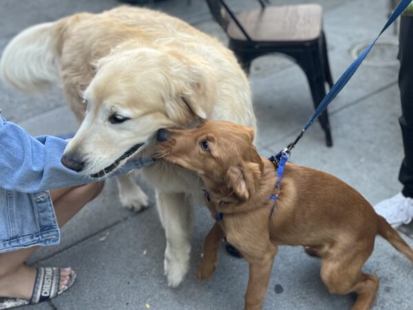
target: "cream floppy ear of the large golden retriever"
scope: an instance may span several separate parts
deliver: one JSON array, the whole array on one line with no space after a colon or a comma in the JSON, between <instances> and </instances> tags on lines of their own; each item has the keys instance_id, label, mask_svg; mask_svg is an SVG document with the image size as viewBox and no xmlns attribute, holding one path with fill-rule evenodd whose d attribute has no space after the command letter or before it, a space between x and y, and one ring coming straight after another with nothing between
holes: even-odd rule
<instances>
[{"instance_id":1,"label":"cream floppy ear of the large golden retriever","mask_svg":"<svg viewBox=\"0 0 413 310\"><path fill-rule=\"evenodd\" d=\"M207 118L216 99L215 79L209 66L174 52L170 57L169 92L165 98L166 112L182 125L194 116Z\"/></svg>"}]
</instances>

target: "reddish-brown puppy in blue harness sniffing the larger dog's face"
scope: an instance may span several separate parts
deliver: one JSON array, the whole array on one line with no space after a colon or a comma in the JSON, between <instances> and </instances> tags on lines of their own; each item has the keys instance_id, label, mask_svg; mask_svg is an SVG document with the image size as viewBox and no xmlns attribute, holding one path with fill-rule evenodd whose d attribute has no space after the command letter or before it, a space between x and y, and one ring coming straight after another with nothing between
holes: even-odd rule
<instances>
[{"instance_id":1,"label":"reddish-brown puppy in blue harness sniffing the larger dog's face","mask_svg":"<svg viewBox=\"0 0 413 310\"><path fill-rule=\"evenodd\" d=\"M223 214L205 240L198 276L211 276L226 236L249 262L245 309L262 309L277 245L304 245L319 256L321 280L330 293L357 293L352 309L370 309L374 302L379 278L361 267L377 234L413 262L413 250L399 234L334 176L287 163L275 205L269 197L277 194L276 167L257 154L252 129L206 121L158 136L158 156L197 172L207 186L212 215Z\"/></svg>"}]
</instances>

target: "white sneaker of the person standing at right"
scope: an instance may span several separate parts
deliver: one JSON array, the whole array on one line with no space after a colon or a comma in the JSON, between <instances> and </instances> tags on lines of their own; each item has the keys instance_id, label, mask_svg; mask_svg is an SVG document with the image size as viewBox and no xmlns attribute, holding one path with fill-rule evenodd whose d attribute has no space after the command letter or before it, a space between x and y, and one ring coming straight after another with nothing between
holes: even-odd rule
<instances>
[{"instance_id":1,"label":"white sneaker of the person standing at right","mask_svg":"<svg viewBox=\"0 0 413 310\"><path fill-rule=\"evenodd\" d=\"M377 214L383 216L393 228L408 224L413 219L413 198L405 197L399 193L382 200L374 206Z\"/></svg>"}]
</instances>

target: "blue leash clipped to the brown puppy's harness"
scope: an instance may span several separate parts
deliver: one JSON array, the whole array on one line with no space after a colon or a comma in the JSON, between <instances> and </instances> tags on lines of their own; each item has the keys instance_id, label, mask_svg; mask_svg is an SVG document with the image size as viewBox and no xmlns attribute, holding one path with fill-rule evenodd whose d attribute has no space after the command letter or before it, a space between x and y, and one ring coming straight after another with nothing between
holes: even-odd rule
<instances>
[{"instance_id":1,"label":"blue leash clipped to the brown puppy's harness","mask_svg":"<svg viewBox=\"0 0 413 310\"><path fill-rule=\"evenodd\" d=\"M284 166L285 166L286 162L288 161L288 156L290 156L291 150L295 147L295 145L297 144L299 139L301 139L301 137L308 130L308 128L311 125L313 125L314 121L320 116L320 114L324 110L326 110L327 106L331 103L331 101L333 101L335 99L337 94L339 94L339 92L341 92L343 87L348 83L348 81L353 76L354 72L357 71L357 69L359 68L361 63L364 61L364 59L366 59L366 56L368 55L368 53L372 49L374 43L377 42L377 40L379 39L381 34L383 34L383 32L385 32L385 30L387 28L389 28L390 25L392 25L392 23L397 19L397 17L399 17L401 15L401 13L403 13L403 11L407 8L407 6L409 6L410 2L412 2L412 0L401 0L399 2L397 7L394 9L394 12L392 12L389 20L387 21L387 23L385 23L383 29L381 30L379 35L376 37L376 39L374 39L372 41L372 43L370 43L370 45L368 45L368 47L365 50L363 50L363 52L350 65L350 67L348 67L346 72L344 72L343 75L340 76L338 81L334 85L332 85L330 91L328 92L328 94L326 94L324 99L321 101L321 103L319 104L319 106L315 110L313 116L310 117L310 120L308 121L308 123L306 123L306 125L304 125L303 129L301 130L301 132L299 133L299 135L297 136L295 141L293 143L290 143L288 145L288 147L286 147L286 149L283 149L277 155L271 156L270 158L268 158L277 167L278 181L277 181L277 185L275 185L275 187L277 188L277 194L274 194L274 195L270 196L270 199L274 200L274 207L275 207L275 203L277 203L277 198L279 196L279 185L281 184L282 175L284 173ZM273 207L273 210L271 211L271 216L273 215L274 207Z\"/></svg>"}]
</instances>

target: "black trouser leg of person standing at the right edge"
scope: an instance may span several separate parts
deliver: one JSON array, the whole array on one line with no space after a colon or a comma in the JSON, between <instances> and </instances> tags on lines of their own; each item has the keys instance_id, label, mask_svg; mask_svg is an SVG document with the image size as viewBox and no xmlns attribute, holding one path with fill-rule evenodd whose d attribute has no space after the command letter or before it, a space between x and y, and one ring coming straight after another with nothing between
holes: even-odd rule
<instances>
[{"instance_id":1,"label":"black trouser leg of person standing at the right edge","mask_svg":"<svg viewBox=\"0 0 413 310\"><path fill-rule=\"evenodd\" d=\"M401 18L399 39L399 89L402 110L399 123L405 151L399 180L403 184L403 195L413 198L413 17Z\"/></svg>"}]
</instances>

